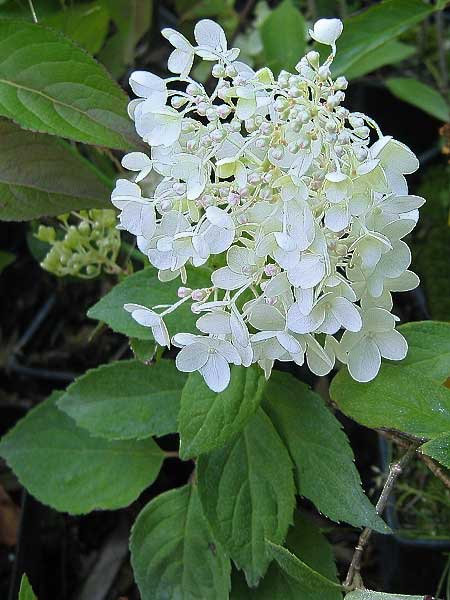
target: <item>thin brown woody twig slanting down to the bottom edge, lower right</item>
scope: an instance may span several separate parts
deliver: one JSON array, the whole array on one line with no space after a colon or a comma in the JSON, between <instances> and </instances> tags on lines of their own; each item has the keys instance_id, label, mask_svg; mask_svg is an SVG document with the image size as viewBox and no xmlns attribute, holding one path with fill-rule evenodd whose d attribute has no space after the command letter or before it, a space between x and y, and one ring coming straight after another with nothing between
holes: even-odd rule
<instances>
[{"instance_id":1,"label":"thin brown woody twig slanting down to the bottom edge, lower right","mask_svg":"<svg viewBox=\"0 0 450 600\"><path fill-rule=\"evenodd\" d=\"M386 479L386 483L384 484L383 489L381 490L380 497L375 506L377 514L381 515L384 509L386 508L389 495L391 494L397 479L400 477L401 473L403 472L403 469L416 453L417 447L417 442L410 444L408 450L400 458L400 460L398 460L395 463L392 463L389 467L389 474ZM361 560L364 549L367 546L367 542L369 541L371 534L372 530L369 527L366 527L359 536L358 544L355 547L352 562L350 563L347 577L344 582L344 587L348 590L363 587L360 575Z\"/></svg>"}]
</instances>

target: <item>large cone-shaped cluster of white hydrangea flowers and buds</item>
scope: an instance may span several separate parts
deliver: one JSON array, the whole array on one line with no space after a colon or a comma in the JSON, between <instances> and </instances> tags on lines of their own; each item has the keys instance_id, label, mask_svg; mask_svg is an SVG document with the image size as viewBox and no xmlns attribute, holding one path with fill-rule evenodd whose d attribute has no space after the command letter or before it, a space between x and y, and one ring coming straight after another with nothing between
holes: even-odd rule
<instances>
[{"instance_id":1,"label":"large cone-shaped cluster of white hydrangea flowers and buds","mask_svg":"<svg viewBox=\"0 0 450 600\"><path fill-rule=\"evenodd\" d=\"M404 178L418 161L342 106L347 81L330 72L341 32L339 20L319 20L310 35L330 56L320 64L312 50L274 77L236 60L222 28L202 20L196 46L163 30L173 77L131 75L129 113L151 155L124 157L136 176L118 180L112 202L160 280L183 286L172 306L125 309L169 346L164 315L192 301L198 335L173 337L176 364L214 391L228 385L230 364L258 363L268 377L275 360L306 360L325 375L337 358L369 381L381 357L406 355L391 292L418 284L403 241L424 202ZM189 76L195 56L214 63L210 94ZM138 184L152 171L161 180L146 198ZM223 266L210 287L186 287L186 266L214 255Z\"/></svg>"}]
</instances>

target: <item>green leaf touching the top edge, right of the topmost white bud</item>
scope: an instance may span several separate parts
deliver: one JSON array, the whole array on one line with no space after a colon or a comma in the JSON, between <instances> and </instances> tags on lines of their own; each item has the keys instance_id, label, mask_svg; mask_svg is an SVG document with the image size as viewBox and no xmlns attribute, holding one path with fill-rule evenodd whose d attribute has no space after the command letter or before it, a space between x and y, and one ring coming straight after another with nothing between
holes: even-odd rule
<instances>
[{"instance_id":1,"label":"green leaf touching the top edge, right of the topmost white bud","mask_svg":"<svg viewBox=\"0 0 450 600\"><path fill-rule=\"evenodd\" d=\"M333 75L345 75L362 57L398 37L434 10L422 0L384 0L345 20Z\"/></svg>"}]
</instances>

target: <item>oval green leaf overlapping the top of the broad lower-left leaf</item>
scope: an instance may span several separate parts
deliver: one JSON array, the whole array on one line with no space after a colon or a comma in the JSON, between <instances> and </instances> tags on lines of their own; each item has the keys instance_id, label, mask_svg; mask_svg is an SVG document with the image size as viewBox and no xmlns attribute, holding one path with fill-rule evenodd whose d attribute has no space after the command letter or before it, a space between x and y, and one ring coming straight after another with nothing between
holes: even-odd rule
<instances>
[{"instance_id":1,"label":"oval green leaf overlapping the top of the broad lower-left leaf","mask_svg":"<svg viewBox=\"0 0 450 600\"><path fill-rule=\"evenodd\" d=\"M177 430L186 375L173 361L102 365L76 379L58 402L76 424L110 440L142 439Z\"/></svg>"}]
</instances>

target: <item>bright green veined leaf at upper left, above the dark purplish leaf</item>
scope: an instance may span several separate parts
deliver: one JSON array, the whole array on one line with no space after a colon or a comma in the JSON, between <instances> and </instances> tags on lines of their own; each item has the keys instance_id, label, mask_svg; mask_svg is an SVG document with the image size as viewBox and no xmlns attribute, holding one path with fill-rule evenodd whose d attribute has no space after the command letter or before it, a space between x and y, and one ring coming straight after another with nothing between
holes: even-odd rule
<instances>
[{"instance_id":1,"label":"bright green veined leaf at upper left, above the dark purplish leaf","mask_svg":"<svg viewBox=\"0 0 450 600\"><path fill-rule=\"evenodd\" d=\"M77 142L136 149L127 97L106 70L61 33L0 20L0 115Z\"/></svg>"}]
</instances>

